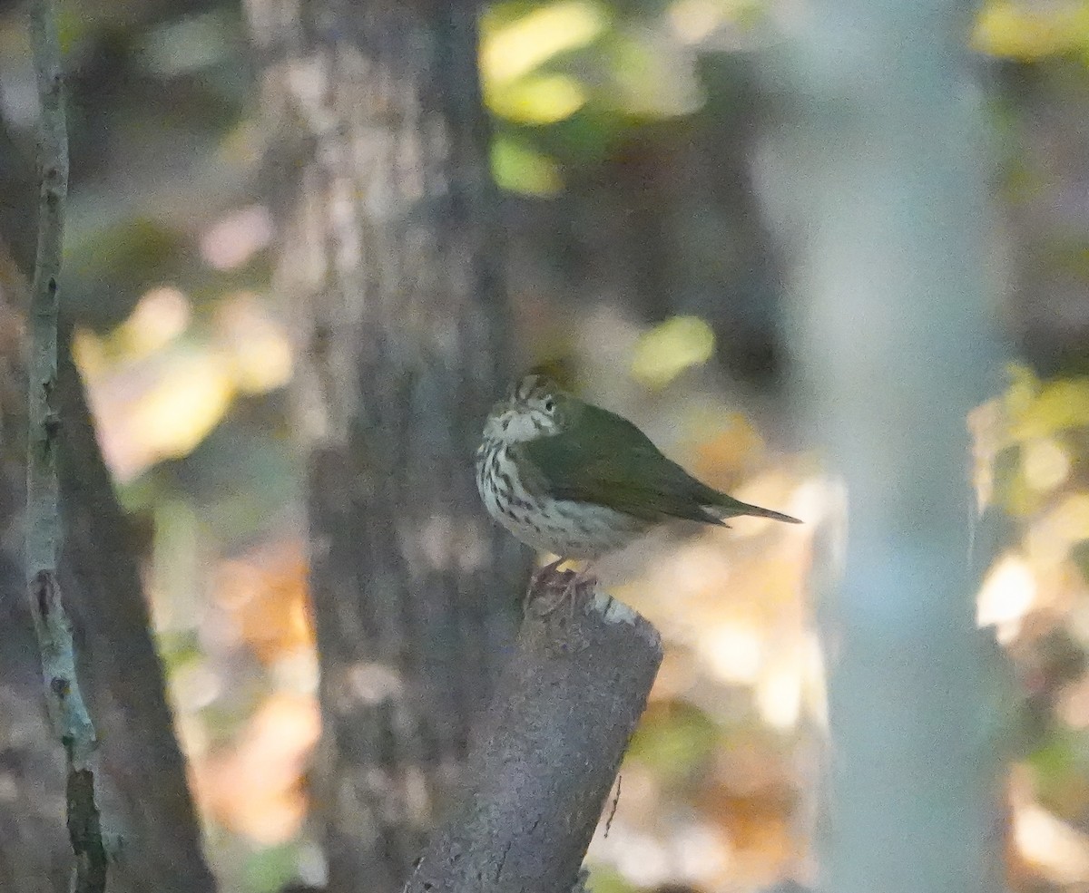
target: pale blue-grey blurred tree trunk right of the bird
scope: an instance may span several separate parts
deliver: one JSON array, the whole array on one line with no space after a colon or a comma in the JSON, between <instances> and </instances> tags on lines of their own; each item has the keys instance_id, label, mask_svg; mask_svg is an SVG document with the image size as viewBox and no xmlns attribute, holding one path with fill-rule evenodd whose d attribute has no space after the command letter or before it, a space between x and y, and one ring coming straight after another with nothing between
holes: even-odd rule
<instances>
[{"instance_id":1,"label":"pale blue-grey blurred tree trunk right of the bird","mask_svg":"<svg viewBox=\"0 0 1089 893\"><path fill-rule=\"evenodd\" d=\"M771 70L766 156L796 239L799 406L847 491L822 595L831 777L821 889L1002 888L998 648L966 417L998 384L982 112L957 3L815 8Z\"/></svg>"}]
</instances>

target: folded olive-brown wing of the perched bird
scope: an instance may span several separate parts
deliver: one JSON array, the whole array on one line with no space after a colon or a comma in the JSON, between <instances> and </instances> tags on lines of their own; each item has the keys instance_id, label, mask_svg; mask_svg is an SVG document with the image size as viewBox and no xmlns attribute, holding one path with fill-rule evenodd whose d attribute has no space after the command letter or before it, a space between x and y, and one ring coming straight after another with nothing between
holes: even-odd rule
<instances>
[{"instance_id":1,"label":"folded olive-brown wing of the perched bird","mask_svg":"<svg viewBox=\"0 0 1089 893\"><path fill-rule=\"evenodd\" d=\"M605 506L646 521L722 523L703 506L717 491L666 459L626 419L586 406L563 432L519 444L538 486L556 499Z\"/></svg>"}]
</instances>

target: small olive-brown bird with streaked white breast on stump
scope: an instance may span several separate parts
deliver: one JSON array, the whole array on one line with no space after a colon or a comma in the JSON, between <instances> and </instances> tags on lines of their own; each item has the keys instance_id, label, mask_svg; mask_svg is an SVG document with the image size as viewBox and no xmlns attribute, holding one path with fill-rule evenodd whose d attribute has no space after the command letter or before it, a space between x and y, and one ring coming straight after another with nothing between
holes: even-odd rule
<instances>
[{"instance_id":1,"label":"small olive-brown bird with streaked white breast on stump","mask_svg":"<svg viewBox=\"0 0 1089 893\"><path fill-rule=\"evenodd\" d=\"M800 523L701 483L627 419L578 399L539 372L515 381L489 412L476 451L476 483L494 520L523 543L556 556L534 574L530 593L564 561L588 562L567 578L553 608L594 581L595 561L668 521L726 526L725 519L755 516Z\"/></svg>"}]
</instances>

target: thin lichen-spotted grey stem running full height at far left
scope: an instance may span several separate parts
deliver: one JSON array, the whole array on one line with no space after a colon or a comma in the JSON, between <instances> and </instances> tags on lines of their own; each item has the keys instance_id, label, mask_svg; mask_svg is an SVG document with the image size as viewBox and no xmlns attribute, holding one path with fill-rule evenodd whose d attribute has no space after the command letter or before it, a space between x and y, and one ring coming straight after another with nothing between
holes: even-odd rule
<instances>
[{"instance_id":1,"label":"thin lichen-spotted grey stem running full height at far left","mask_svg":"<svg viewBox=\"0 0 1089 893\"><path fill-rule=\"evenodd\" d=\"M57 278L68 196L68 128L57 11L52 0L30 8L34 65L41 104L38 249L30 303L26 464L26 583L41 652L46 703L68 761L68 829L75 854L76 893L106 889L106 852L95 804L95 728L76 679L72 624L57 574L60 541L57 452Z\"/></svg>"}]
</instances>

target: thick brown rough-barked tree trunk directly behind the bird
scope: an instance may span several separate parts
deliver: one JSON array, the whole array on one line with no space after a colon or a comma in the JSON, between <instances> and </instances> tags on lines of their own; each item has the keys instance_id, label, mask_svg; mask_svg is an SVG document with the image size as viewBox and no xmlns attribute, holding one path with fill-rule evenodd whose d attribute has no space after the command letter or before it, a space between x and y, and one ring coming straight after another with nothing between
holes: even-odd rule
<instances>
[{"instance_id":1,"label":"thick brown rough-barked tree trunk directly behind the bird","mask_svg":"<svg viewBox=\"0 0 1089 893\"><path fill-rule=\"evenodd\" d=\"M524 559L473 449L506 307L467 2L250 0L298 310L333 891L390 891L463 773Z\"/></svg>"}]
</instances>

